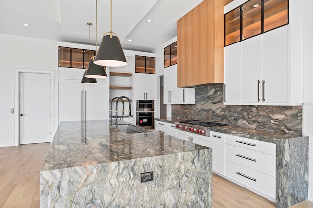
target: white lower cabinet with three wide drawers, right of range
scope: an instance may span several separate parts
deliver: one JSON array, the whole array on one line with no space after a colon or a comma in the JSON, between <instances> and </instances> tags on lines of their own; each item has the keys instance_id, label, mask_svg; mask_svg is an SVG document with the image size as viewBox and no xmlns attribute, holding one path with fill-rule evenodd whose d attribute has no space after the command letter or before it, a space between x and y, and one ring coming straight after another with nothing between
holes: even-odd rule
<instances>
[{"instance_id":1,"label":"white lower cabinet with three wide drawers, right of range","mask_svg":"<svg viewBox=\"0 0 313 208\"><path fill-rule=\"evenodd\" d=\"M211 147L214 172L275 201L276 145L274 143L211 131Z\"/></svg>"}]
</instances>

